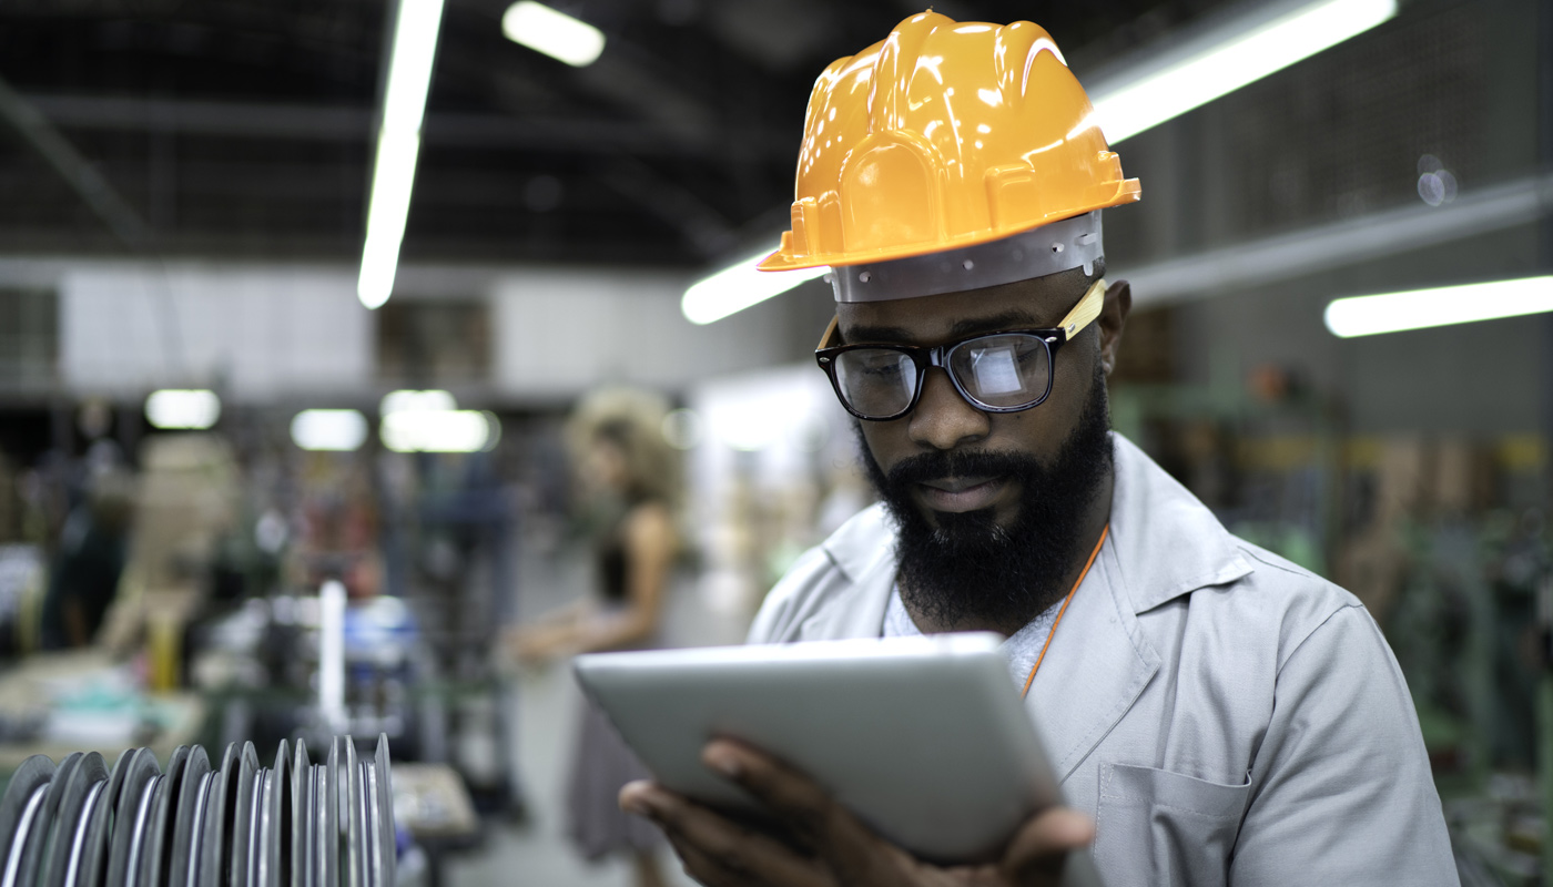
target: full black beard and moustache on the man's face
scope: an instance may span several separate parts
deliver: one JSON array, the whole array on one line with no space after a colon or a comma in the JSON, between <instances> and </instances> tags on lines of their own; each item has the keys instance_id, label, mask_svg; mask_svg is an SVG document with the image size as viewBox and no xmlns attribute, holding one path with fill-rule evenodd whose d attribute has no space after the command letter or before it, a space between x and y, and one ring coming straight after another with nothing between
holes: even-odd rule
<instances>
[{"instance_id":1,"label":"full black beard and moustache on the man's face","mask_svg":"<svg viewBox=\"0 0 1553 887\"><path fill-rule=\"evenodd\" d=\"M1041 407L1036 407L1041 409ZM857 426L863 468L898 527L901 600L935 624L1023 626L1067 595L1064 579L1095 544L1086 537L1089 508L1112 471L1106 377L1096 367L1078 424L1050 466L1022 454L935 450L885 474ZM1020 485L1014 522L992 510L947 514L929 524L910 489L940 477L1008 477Z\"/></svg>"}]
</instances>

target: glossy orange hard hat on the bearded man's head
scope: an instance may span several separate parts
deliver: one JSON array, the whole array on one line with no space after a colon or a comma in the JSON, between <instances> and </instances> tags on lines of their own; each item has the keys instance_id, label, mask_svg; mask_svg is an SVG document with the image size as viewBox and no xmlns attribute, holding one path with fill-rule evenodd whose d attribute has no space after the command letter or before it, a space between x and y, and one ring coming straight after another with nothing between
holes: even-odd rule
<instances>
[{"instance_id":1,"label":"glossy orange hard hat on the bearded man's head","mask_svg":"<svg viewBox=\"0 0 1553 887\"><path fill-rule=\"evenodd\" d=\"M921 12L815 81L792 230L759 267L943 253L1137 199L1045 30Z\"/></svg>"}]
</instances>

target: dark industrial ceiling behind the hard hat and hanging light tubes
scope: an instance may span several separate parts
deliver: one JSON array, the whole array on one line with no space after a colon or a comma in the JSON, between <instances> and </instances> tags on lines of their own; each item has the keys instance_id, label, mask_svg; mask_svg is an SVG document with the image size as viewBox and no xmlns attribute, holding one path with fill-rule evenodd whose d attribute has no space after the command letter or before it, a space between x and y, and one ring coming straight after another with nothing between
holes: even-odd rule
<instances>
[{"instance_id":1,"label":"dark industrial ceiling behind the hard hat and hanging light tubes","mask_svg":"<svg viewBox=\"0 0 1553 887\"><path fill-rule=\"evenodd\" d=\"M0 6L0 253L354 261L391 0ZM1218 0L954 0L1084 76ZM702 267L783 227L809 85L910 0L579 0L572 68L447 0L408 261ZM5 89L5 87L9 89ZM73 183L71 183L73 182Z\"/></svg>"}]
</instances>

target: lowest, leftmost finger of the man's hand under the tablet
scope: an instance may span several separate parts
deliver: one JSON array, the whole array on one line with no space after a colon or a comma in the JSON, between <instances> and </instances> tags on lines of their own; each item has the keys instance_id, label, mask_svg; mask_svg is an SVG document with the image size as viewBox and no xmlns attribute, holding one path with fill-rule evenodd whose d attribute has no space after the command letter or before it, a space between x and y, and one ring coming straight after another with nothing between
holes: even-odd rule
<instances>
[{"instance_id":1,"label":"lowest, leftmost finger of the man's hand under the tablet","mask_svg":"<svg viewBox=\"0 0 1553 887\"><path fill-rule=\"evenodd\" d=\"M657 823L702 884L834 887L812 857L654 783L627 783L620 806Z\"/></svg>"}]
</instances>

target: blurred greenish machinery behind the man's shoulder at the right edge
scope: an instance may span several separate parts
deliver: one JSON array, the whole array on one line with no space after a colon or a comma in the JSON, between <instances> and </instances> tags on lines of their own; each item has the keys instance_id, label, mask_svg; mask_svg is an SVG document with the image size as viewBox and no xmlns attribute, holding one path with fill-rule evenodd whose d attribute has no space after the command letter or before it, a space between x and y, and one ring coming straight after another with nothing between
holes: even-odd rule
<instances>
[{"instance_id":1,"label":"blurred greenish machinery behind the man's shoulder at the right edge","mask_svg":"<svg viewBox=\"0 0 1553 887\"><path fill-rule=\"evenodd\" d=\"M1207 385L1173 384L1168 367L1146 367L1160 323L1137 323L1141 354L1114 379L1114 426L1233 533L1364 601L1418 708L1463 884L1548 882L1545 441L1353 433L1342 402L1272 365L1241 374L1210 357Z\"/></svg>"}]
</instances>

